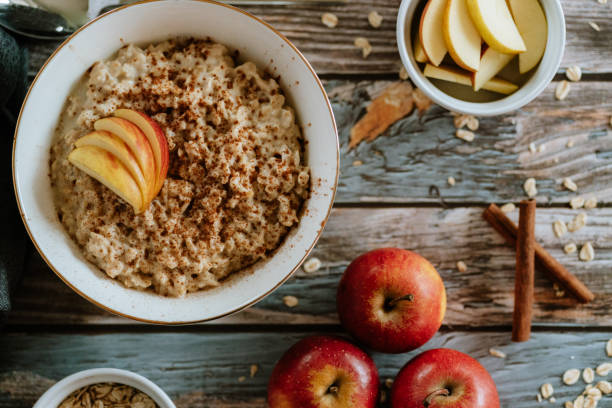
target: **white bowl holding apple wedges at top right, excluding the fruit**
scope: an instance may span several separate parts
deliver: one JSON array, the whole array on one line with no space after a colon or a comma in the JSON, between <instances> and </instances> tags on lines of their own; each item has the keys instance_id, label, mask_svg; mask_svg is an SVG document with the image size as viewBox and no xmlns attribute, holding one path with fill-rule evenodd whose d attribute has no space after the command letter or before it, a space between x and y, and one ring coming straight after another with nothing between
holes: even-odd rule
<instances>
[{"instance_id":1,"label":"white bowl holding apple wedges at top right, excluding the fruit","mask_svg":"<svg viewBox=\"0 0 612 408\"><path fill-rule=\"evenodd\" d=\"M412 51L411 24L421 1L402 0L397 15L397 47L402 63L414 84L438 105L454 112L476 116L501 115L520 109L531 102L557 73L565 47L565 17L559 0L541 0L548 22L548 42L540 65L523 86L513 94L494 102L466 102L444 93L423 75Z\"/></svg>"}]
</instances>

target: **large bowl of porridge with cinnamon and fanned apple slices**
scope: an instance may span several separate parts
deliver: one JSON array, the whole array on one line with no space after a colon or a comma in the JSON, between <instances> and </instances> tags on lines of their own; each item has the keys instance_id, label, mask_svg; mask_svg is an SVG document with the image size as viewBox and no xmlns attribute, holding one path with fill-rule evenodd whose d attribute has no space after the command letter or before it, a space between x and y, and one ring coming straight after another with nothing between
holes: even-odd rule
<instances>
[{"instance_id":1,"label":"large bowl of porridge with cinnamon and fanned apple slices","mask_svg":"<svg viewBox=\"0 0 612 408\"><path fill-rule=\"evenodd\" d=\"M13 177L64 282L113 313L180 324L248 307L299 268L331 211L338 152L325 91L285 37L231 6L151 1L50 57L20 113Z\"/></svg>"}]
</instances>

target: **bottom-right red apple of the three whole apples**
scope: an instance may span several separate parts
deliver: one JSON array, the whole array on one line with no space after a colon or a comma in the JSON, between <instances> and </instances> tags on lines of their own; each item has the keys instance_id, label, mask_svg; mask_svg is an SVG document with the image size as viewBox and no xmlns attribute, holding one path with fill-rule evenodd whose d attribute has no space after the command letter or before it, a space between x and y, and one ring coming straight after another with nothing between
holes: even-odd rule
<instances>
[{"instance_id":1,"label":"bottom-right red apple of the three whole apples","mask_svg":"<svg viewBox=\"0 0 612 408\"><path fill-rule=\"evenodd\" d=\"M460 351L419 354L400 370L391 408L499 408L495 382L475 359Z\"/></svg>"}]
</instances>

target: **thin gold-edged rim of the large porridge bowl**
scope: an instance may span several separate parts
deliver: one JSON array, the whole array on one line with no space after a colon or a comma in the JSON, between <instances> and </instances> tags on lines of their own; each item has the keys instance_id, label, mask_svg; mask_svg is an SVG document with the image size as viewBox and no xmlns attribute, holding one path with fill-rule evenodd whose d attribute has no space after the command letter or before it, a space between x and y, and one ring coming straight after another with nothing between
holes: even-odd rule
<instances>
[{"instance_id":1,"label":"thin gold-edged rim of the large porridge bowl","mask_svg":"<svg viewBox=\"0 0 612 408\"><path fill-rule=\"evenodd\" d=\"M88 21L83 26L79 27L74 33L72 33L68 38L66 38L53 51L53 53L49 56L49 58L47 58L45 63L42 65L42 67L36 73L36 76L34 77L34 80L32 81L32 83L30 84L30 87L28 88L28 92L26 93L26 95L25 95L25 97L23 99L23 103L21 105L21 109L19 110L19 116L17 117L17 122L15 124L15 132L13 134L13 148L12 148L13 151L12 151L11 166L12 166L12 177L13 177L13 191L15 193L15 199L17 201L17 207L19 209L19 216L21 217L21 220L22 220L22 222L23 222L23 224L25 226L25 229L26 229L26 231L28 233L28 236L30 237L30 240L34 244L34 247L36 248L36 250L38 251L38 253L42 257L42 259L45 261L47 266L57 275L57 277L59 277L66 285L68 285L68 287L70 287L79 296L81 296L82 298L86 299L90 303L96 305L97 307L99 307L99 308L101 308L101 309L103 309L103 310L105 310L105 311L107 311L109 313L112 313L114 315L121 316L121 317L124 317L124 318L132 319L132 320L135 320L135 321L138 321L138 322L142 322L142 323L175 326L175 325L185 325L185 324L196 324L196 323L208 322L208 321L220 319L222 317L229 316L231 314L234 314L234 313L240 312L242 310L245 310L245 309L253 306L254 304L258 303L260 300L262 300L263 298L265 298L266 296L268 296L272 292L274 292L281 285L283 285L291 276L293 276L293 274L300 268L302 263L306 260L306 258L312 252L312 249L314 248L314 246L318 242L319 238L321 237L321 235L323 233L323 230L325 229L325 226L327 225L327 222L328 222L329 217L331 215L332 207L334 205L334 201L335 201L335 198L336 198L336 191L338 189L338 179L339 179L339 176L340 176L340 141L339 141L339 136L338 136L338 126L336 124L336 119L334 117L334 111L332 109L331 102L329 101L327 93L325 92L325 88L323 87L323 83L321 82L321 80L317 76L314 68L312 67L312 65L310 65L310 63L308 62L306 57L300 52L300 50L295 45L293 45L293 43L291 41L289 41L289 39L287 37L285 37L285 35L283 35L280 31L278 31L276 28L274 28L272 25L270 25L269 23L265 22L261 18L255 16L255 15L253 15L253 14L251 14L251 13L245 11L245 10L242 10L242 9L240 9L238 7L231 6L229 4L219 3L218 1L215 1L215 0L175 0L175 1L194 2L194 3L207 3L207 4L212 4L212 5L215 5L215 6L225 7L227 9L233 10L235 12L241 13L241 14L245 15L246 17L251 18L252 20L255 20L257 23L262 24L263 26L265 26L266 28L271 30L282 41L284 41L285 44L287 44L291 49L293 49L293 51L297 54L297 56L305 64L306 68L308 68L308 70L312 74L313 79L315 80L316 84L318 85L321 93L323 94L323 98L324 98L325 103L327 105L327 109L329 111L330 119L331 119L331 122L333 124L334 134L336 136L336 141L335 141L335 148L336 148L336 175L335 175L335 178L333 179L333 189L332 189L332 192L331 192L329 207L327 208L327 213L325 214L323 222L321 223L321 228L318 230L317 235L315 236L314 240L312 241L312 244L310 245L308 250L304 252L304 254L300 258L300 260L297 262L295 267L293 269L291 269L287 273L287 275L285 275L272 288L267 290L265 293L262 293L261 295L255 297L251 301L249 301L249 302L247 302L247 303L245 303L243 305L239 305L237 307L234 307L231 310L228 310L228 311L226 311L224 313L217 314L215 316L206 317L204 319L198 319L198 320L189 320L189 321L158 321L158 320L145 319L145 318L141 318L141 317L137 317L137 316L132 316L132 315L127 314L127 313L119 312L119 311L117 311L117 310L115 310L115 309L113 309L113 308L111 308L111 307L109 307L107 305L104 305L104 304L102 304L100 302L97 302L97 301L93 300L92 298L87 296L85 293L83 293L82 291L77 289L74 285L72 285L70 283L70 281L68 281L66 278L64 278L64 276L59 272L59 270L57 268L55 268L55 266L51 263L51 261L44 254L44 252L40 249L40 246L38 245L38 242L36 241L36 239L34 238L34 235L32 234L32 232L30 230L28 221L26 220L25 212L24 212L24 210L22 208L21 198L19 196L19 189L17 188L17 176L16 176L16 171L15 171L15 151L16 151L16 146L17 146L17 136L18 136L18 133L19 133L19 125L21 123L21 118L22 118L22 114L23 114L23 111L24 111L24 107L25 107L25 105L26 105L26 103L28 101L28 98L30 96L30 93L31 93L32 89L36 85L38 79L40 78L40 75L45 70L45 68L47 67L49 62L51 60L53 60L53 58L55 58L56 54L62 48L64 48L66 45L68 45L70 40L73 37L75 37L76 35L78 35L82 30L84 30L86 27L90 26L91 24L94 24L98 20L100 20L102 18L105 18L106 16L109 16L109 15L111 15L113 13L118 12L118 11L124 10L124 9L126 9L128 7L133 7L133 6L138 6L138 5L148 4L148 3L161 3L161 2L165 2L165 1L166 0L142 0L142 1L135 2L135 3L126 4L124 6L121 6L121 7L118 7L116 9L110 10L110 11L104 13L104 14L101 14L101 15L97 16L96 18ZM132 290L132 289L130 289L130 290Z\"/></svg>"}]
</instances>

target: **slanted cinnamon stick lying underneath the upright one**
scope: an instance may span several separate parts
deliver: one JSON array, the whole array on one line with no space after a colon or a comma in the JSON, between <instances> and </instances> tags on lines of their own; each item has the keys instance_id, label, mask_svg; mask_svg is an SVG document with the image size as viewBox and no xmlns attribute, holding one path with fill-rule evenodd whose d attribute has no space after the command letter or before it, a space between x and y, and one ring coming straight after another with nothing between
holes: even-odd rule
<instances>
[{"instance_id":1,"label":"slanted cinnamon stick lying underneath the upright one","mask_svg":"<svg viewBox=\"0 0 612 408\"><path fill-rule=\"evenodd\" d=\"M489 205L482 216L502 237L504 237L508 244L514 248L516 247L516 234L518 228L497 205ZM553 258L537 242L535 243L535 259L538 269L545 272L549 279L565 288L565 290L571 293L579 302L587 303L595 299L593 292L591 292L580 279L565 269L563 265Z\"/></svg>"}]
</instances>

